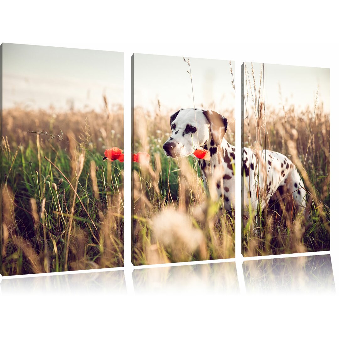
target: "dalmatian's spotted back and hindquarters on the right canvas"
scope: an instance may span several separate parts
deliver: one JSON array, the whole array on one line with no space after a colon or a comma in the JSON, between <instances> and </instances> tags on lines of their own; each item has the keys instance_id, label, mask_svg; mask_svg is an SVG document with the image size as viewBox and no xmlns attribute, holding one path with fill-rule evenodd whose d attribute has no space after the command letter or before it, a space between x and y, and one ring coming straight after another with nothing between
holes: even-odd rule
<instances>
[{"instance_id":1,"label":"dalmatian's spotted back and hindquarters on the right canvas","mask_svg":"<svg viewBox=\"0 0 339 338\"><path fill-rule=\"evenodd\" d=\"M263 209L265 204L278 202L280 198L282 201L286 201L286 197L291 198L294 210L305 214L306 191L303 181L295 165L285 155L276 151L243 148L241 171L244 226L251 213L254 223L257 222L259 205ZM250 224L250 229L258 233L253 224Z\"/></svg>"}]
</instances>

